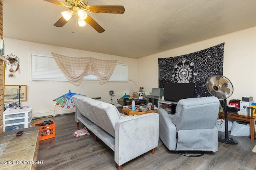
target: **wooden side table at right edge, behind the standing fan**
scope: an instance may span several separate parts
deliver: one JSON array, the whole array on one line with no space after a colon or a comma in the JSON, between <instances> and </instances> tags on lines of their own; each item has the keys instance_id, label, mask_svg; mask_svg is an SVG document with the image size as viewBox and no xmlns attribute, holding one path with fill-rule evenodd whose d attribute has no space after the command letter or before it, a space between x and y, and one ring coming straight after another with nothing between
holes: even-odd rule
<instances>
[{"instance_id":1,"label":"wooden side table at right edge, behind the standing fan","mask_svg":"<svg viewBox=\"0 0 256 170\"><path fill-rule=\"evenodd\" d=\"M219 116L224 116L224 113L223 112L219 112ZM237 114L234 114L234 113L228 113L228 117L230 118L234 118L234 119L239 119L239 120L244 120L244 121L249 121L250 122L250 132L251 132L251 140L252 141L255 141L255 128L254 128L254 124L255 124L255 119L256 117L253 116L253 117L249 117L249 116L242 116L242 115L237 115Z\"/></svg>"}]
</instances>

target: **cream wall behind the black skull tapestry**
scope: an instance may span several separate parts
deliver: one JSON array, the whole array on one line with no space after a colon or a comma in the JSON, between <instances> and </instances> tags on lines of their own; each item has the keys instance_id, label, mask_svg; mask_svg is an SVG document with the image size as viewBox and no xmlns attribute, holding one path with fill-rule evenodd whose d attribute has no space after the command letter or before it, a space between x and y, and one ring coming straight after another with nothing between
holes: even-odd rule
<instances>
[{"instance_id":1,"label":"cream wall behind the black skull tapestry","mask_svg":"<svg viewBox=\"0 0 256 170\"><path fill-rule=\"evenodd\" d=\"M234 93L227 100L242 100L242 96L253 96L256 101L256 27L140 58L137 61L138 86L146 89L158 87L158 58L194 53L223 42L223 75L234 86ZM150 66L147 72L143 66L139 66L140 63Z\"/></svg>"}]
</instances>

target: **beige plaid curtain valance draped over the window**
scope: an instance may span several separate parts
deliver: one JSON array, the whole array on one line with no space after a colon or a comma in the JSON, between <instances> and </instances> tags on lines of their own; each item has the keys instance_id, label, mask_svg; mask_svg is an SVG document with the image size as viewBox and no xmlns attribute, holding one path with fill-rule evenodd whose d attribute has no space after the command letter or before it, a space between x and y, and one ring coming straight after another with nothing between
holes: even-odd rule
<instances>
[{"instance_id":1,"label":"beige plaid curtain valance draped over the window","mask_svg":"<svg viewBox=\"0 0 256 170\"><path fill-rule=\"evenodd\" d=\"M67 57L52 53L64 76L72 84L79 86L84 76L97 76L100 85L106 83L116 66L116 60L100 60L92 57Z\"/></svg>"}]
</instances>

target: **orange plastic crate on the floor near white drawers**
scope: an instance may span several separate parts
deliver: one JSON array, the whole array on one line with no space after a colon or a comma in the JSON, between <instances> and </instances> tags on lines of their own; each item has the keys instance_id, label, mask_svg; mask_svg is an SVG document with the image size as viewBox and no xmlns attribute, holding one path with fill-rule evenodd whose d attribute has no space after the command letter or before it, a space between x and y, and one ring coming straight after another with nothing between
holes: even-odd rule
<instances>
[{"instance_id":1,"label":"orange plastic crate on the floor near white drawers","mask_svg":"<svg viewBox=\"0 0 256 170\"><path fill-rule=\"evenodd\" d=\"M34 126L39 126L39 141L55 137L55 123L53 120L52 125L40 126L42 122L34 123Z\"/></svg>"}]
</instances>

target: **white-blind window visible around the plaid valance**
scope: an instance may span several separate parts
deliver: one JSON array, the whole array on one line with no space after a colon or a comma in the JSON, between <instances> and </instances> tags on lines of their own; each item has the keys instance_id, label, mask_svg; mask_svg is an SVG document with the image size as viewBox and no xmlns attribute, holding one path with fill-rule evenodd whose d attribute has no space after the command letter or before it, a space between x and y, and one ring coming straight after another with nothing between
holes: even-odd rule
<instances>
[{"instance_id":1,"label":"white-blind window visible around the plaid valance","mask_svg":"<svg viewBox=\"0 0 256 170\"><path fill-rule=\"evenodd\" d=\"M31 55L32 81L68 81L62 74L52 55L32 53ZM94 75L84 76L83 80L97 80ZM128 64L116 64L108 81L128 82Z\"/></svg>"}]
</instances>

